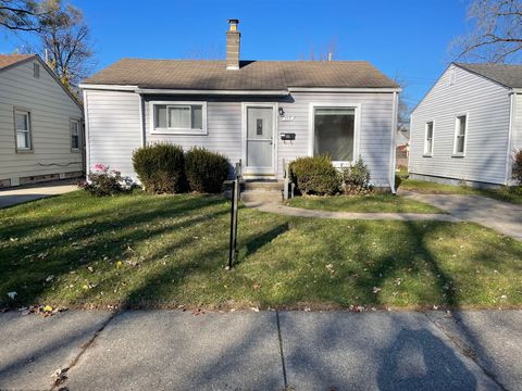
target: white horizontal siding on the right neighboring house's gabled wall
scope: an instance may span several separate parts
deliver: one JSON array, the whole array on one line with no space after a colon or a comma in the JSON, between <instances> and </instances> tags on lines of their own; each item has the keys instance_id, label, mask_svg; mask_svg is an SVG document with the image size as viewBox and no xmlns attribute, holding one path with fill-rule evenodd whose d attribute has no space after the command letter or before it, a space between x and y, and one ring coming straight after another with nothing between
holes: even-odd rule
<instances>
[{"instance_id":1,"label":"white horizontal siding on the right neighboring house's gabled wall","mask_svg":"<svg viewBox=\"0 0 522 391\"><path fill-rule=\"evenodd\" d=\"M452 157L455 118L461 114L468 114L465 156ZM410 173L504 185L509 118L507 88L450 66L411 115ZM425 123L431 121L435 123L433 155L425 157Z\"/></svg>"}]
</instances>

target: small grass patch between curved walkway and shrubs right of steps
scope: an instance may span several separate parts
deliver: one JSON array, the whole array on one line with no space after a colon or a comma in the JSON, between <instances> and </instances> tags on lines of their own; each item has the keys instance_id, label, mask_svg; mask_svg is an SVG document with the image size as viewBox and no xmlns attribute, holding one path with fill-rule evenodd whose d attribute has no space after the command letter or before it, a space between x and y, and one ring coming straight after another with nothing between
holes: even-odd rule
<instances>
[{"instance_id":1,"label":"small grass patch between curved walkway and shrubs right of steps","mask_svg":"<svg viewBox=\"0 0 522 391\"><path fill-rule=\"evenodd\" d=\"M435 206L394 194L303 195L288 200L287 205L330 212L443 213Z\"/></svg>"}]
</instances>

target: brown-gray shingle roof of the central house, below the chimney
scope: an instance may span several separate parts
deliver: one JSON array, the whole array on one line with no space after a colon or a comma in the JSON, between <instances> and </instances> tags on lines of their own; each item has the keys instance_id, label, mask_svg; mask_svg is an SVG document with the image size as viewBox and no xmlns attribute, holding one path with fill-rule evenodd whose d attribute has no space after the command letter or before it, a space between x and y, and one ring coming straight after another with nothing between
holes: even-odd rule
<instances>
[{"instance_id":1,"label":"brown-gray shingle roof of the central house, below the chimney","mask_svg":"<svg viewBox=\"0 0 522 391\"><path fill-rule=\"evenodd\" d=\"M94 85L201 90L282 90L288 87L398 88L365 61L225 61L123 59L85 80Z\"/></svg>"}]
</instances>

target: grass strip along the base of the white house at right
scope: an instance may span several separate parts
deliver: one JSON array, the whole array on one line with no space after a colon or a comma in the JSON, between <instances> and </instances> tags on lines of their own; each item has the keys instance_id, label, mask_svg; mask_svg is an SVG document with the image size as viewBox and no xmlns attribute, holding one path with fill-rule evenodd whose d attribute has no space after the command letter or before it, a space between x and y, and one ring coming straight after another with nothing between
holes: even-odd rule
<instances>
[{"instance_id":1,"label":"grass strip along the base of the white house at right","mask_svg":"<svg viewBox=\"0 0 522 391\"><path fill-rule=\"evenodd\" d=\"M440 185L423 180L403 179L400 189L432 194L472 194L494 198L496 200L522 204L522 191L500 188L498 190L474 189L468 186Z\"/></svg>"}]
</instances>

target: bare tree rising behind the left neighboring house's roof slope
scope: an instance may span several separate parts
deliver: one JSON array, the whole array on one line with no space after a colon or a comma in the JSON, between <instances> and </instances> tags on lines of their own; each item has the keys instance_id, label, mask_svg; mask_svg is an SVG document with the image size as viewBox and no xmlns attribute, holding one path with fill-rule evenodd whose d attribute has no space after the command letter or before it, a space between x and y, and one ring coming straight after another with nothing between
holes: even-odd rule
<instances>
[{"instance_id":1,"label":"bare tree rising behind the left neighboring house's roof slope","mask_svg":"<svg viewBox=\"0 0 522 391\"><path fill-rule=\"evenodd\" d=\"M39 46L37 52L48 52L48 65L62 83L75 89L82 79L94 70L89 28L82 11L73 5L63 5L61 0L47 0L45 14L40 17Z\"/></svg>"}]
</instances>

